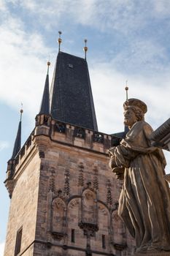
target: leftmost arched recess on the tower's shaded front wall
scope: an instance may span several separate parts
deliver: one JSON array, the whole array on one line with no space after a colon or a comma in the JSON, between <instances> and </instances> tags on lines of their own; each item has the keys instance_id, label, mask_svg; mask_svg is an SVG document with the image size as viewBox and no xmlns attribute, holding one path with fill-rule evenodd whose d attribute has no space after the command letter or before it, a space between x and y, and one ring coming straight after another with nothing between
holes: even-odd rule
<instances>
[{"instance_id":1,"label":"leftmost arched recess on the tower's shaded front wall","mask_svg":"<svg viewBox=\"0 0 170 256\"><path fill-rule=\"evenodd\" d=\"M51 232L58 239L66 233L66 203L59 197L52 202Z\"/></svg>"}]
</instances>

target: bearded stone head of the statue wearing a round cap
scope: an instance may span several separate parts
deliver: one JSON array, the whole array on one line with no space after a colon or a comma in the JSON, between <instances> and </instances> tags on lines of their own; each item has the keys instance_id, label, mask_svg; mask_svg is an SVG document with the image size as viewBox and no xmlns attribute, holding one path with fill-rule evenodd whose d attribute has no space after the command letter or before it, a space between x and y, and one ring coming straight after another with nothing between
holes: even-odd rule
<instances>
[{"instance_id":1,"label":"bearded stone head of the statue wearing a round cap","mask_svg":"<svg viewBox=\"0 0 170 256\"><path fill-rule=\"evenodd\" d=\"M144 121L144 113L147 113L147 105L140 99L128 99L124 102L124 124L132 127L136 121Z\"/></svg>"}]
</instances>

